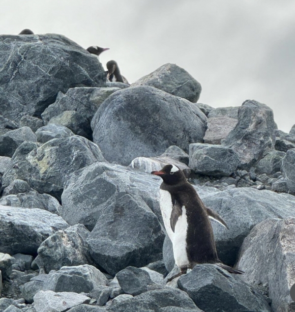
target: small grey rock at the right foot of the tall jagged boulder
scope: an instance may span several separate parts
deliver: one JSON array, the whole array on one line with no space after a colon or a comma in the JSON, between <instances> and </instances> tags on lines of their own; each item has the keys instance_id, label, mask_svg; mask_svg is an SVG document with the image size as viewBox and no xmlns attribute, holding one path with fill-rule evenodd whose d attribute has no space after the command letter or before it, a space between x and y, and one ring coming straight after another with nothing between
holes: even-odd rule
<instances>
[{"instance_id":1,"label":"small grey rock at the right foot of the tall jagged boulder","mask_svg":"<svg viewBox=\"0 0 295 312\"><path fill-rule=\"evenodd\" d=\"M284 152L271 151L258 162L256 169L268 175L281 171L281 162L285 155Z\"/></svg>"}]
</instances>

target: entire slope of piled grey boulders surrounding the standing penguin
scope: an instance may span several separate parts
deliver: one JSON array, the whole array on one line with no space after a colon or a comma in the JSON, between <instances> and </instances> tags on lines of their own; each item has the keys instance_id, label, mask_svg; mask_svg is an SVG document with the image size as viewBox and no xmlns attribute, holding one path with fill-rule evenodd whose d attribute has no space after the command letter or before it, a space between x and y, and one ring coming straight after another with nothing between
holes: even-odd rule
<instances>
[{"instance_id":1,"label":"entire slope of piled grey boulders surrounding the standing penguin","mask_svg":"<svg viewBox=\"0 0 295 312\"><path fill-rule=\"evenodd\" d=\"M130 87L56 35L0 36L0 312L291 312L295 128L265 104L214 109L165 64ZM160 178L181 168L231 275L172 282Z\"/></svg>"}]
</instances>

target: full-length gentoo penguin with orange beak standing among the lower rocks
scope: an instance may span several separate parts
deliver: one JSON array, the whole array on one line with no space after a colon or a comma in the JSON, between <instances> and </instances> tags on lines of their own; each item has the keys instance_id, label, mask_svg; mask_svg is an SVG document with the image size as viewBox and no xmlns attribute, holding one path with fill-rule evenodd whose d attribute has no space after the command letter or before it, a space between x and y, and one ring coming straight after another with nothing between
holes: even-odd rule
<instances>
[{"instance_id":1,"label":"full-length gentoo penguin with orange beak standing among the lower rocks","mask_svg":"<svg viewBox=\"0 0 295 312\"><path fill-rule=\"evenodd\" d=\"M197 263L216 263L230 273L243 274L218 259L209 218L227 227L222 218L203 204L184 173L175 165L152 171L163 179L160 186L160 208L164 225L173 244L175 263L185 274Z\"/></svg>"}]
</instances>

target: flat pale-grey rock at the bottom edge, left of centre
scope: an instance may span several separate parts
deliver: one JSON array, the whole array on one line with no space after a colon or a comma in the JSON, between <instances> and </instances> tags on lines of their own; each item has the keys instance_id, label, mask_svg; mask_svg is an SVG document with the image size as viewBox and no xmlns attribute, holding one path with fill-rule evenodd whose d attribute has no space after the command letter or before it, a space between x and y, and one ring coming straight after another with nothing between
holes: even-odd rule
<instances>
[{"instance_id":1,"label":"flat pale-grey rock at the bottom edge, left of centre","mask_svg":"<svg viewBox=\"0 0 295 312\"><path fill-rule=\"evenodd\" d=\"M89 297L76 292L40 290L34 295L33 307L36 312L62 312L89 301Z\"/></svg>"}]
</instances>

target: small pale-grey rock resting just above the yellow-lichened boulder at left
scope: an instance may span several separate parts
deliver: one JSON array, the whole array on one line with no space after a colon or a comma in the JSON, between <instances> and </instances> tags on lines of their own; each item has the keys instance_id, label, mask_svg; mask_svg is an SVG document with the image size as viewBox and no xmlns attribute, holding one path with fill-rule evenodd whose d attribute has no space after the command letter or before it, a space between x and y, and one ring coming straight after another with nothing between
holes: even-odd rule
<instances>
[{"instance_id":1,"label":"small pale-grey rock resting just above the yellow-lichened boulder at left","mask_svg":"<svg viewBox=\"0 0 295 312\"><path fill-rule=\"evenodd\" d=\"M38 142L46 143L52 139L71 137L74 133L65 126L50 123L47 126L39 128L35 135Z\"/></svg>"}]
</instances>

